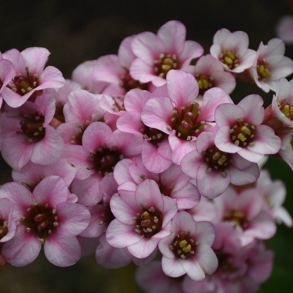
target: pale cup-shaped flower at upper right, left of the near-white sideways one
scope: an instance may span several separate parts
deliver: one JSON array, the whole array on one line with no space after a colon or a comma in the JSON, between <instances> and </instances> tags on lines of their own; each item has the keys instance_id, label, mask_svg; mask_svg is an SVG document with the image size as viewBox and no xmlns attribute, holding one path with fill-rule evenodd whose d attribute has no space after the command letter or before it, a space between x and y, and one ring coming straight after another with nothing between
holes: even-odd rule
<instances>
[{"instance_id":1,"label":"pale cup-shaped flower at upper right, left of the near-white sideways one","mask_svg":"<svg viewBox=\"0 0 293 293\"><path fill-rule=\"evenodd\" d=\"M244 31L231 33L222 28L215 33L210 51L227 71L240 73L251 67L256 60L256 52L248 49L248 44L248 34Z\"/></svg>"}]
</instances>

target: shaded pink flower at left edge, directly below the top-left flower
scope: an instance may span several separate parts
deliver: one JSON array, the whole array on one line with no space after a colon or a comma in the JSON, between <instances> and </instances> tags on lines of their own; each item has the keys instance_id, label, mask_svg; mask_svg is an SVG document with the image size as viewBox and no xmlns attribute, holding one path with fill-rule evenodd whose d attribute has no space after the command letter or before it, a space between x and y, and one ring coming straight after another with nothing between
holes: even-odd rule
<instances>
[{"instance_id":1,"label":"shaded pink flower at left edge, directly below the top-left flower","mask_svg":"<svg viewBox=\"0 0 293 293\"><path fill-rule=\"evenodd\" d=\"M27 101L18 108L6 107L2 114L1 154L12 168L20 169L27 162L48 165L61 157L64 142L49 123L55 112L55 99L47 93L35 103Z\"/></svg>"}]
</instances>

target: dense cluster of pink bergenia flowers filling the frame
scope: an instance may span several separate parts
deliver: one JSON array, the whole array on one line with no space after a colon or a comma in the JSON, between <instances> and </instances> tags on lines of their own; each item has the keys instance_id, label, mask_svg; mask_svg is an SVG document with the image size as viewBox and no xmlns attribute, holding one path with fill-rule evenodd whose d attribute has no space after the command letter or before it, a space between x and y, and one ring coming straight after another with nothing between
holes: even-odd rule
<instances>
[{"instance_id":1,"label":"dense cluster of pink bergenia flowers filling the frame","mask_svg":"<svg viewBox=\"0 0 293 293\"><path fill-rule=\"evenodd\" d=\"M56 266L94 251L106 268L133 261L146 292L157 280L160 292L256 292L269 277L263 240L292 219L284 184L258 163L276 155L293 169L293 61L276 38L254 51L245 32L221 29L206 56L185 38L169 21L71 80L44 69L45 48L0 53L14 180L0 187L0 266L26 266L43 244ZM275 91L271 105L234 104L236 78Z\"/></svg>"}]
</instances>

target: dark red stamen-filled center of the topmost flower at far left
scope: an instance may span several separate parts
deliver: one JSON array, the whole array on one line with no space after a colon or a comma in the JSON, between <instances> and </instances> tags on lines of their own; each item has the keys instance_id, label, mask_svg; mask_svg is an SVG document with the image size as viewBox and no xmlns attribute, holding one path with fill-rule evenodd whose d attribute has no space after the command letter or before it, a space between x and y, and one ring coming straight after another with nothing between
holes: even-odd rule
<instances>
[{"instance_id":1,"label":"dark red stamen-filled center of the topmost flower at far left","mask_svg":"<svg viewBox=\"0 0 293 293\"><path fill-rule=\"evenodd\" d=\"M28 72L28 68L26 68L26 72L26 76L19 73L12 79L13 85L11 86L11 89L20 96L24 96L40 85L38 74Z\"/></svg>"}]
</instances>

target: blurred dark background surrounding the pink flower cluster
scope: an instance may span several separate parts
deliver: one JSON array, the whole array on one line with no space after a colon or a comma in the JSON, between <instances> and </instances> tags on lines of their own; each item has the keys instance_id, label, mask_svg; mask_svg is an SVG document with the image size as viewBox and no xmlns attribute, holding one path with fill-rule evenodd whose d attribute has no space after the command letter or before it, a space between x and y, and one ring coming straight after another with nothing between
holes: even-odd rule
<instances>
[{"instance_id":1,"label":"blurred dark background surrounding the pink flower cluster","mask_svg":"<svg viewBox=\"0 0 293 293\"><path fill-rule=\"evenodd\" d=\"M195 40L209 53L213 35L220 28L245 31L250 48L257 50L276 37L276 24L284 15L293 14L290 1L1 1L0 51L39 46L49 49L47 65L60 69L65 78L85 60L106 54L117 54L123 38L142 31L157 32L168 20L182 21L186 39ZM293 59L293 46L286 47ZM291 79L292 76L289 78ZM231 94L234 102L248 94L258 93L267 106L273 96L256 85L237 80ZM280 159L272 157L268 168L274 179L285 180L288 195L285 207L293 215L292 171ZM11 169L0 161L0 184L11 181ZM291 292L293 273L293 231L278 226L276 236L266 241L275 251L272 276L259 292ZM81 259L69 268L51 265L43 253L31 265L15 268L7 265L0 272L0 292L140 292L134 282L135 266L108 270L99 267L94 256Z\"/></svg>"}]
</instances>

